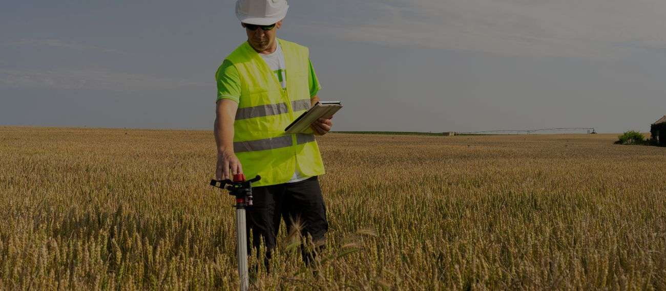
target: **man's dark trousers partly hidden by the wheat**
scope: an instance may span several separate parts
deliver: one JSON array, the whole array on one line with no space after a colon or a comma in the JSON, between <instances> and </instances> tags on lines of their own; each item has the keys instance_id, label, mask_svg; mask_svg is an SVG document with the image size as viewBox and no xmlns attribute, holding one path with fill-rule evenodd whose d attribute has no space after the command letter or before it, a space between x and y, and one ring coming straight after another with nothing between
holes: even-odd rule
<instances>
[{"instance_id":1,"label":"man's dark trousers partly hidden by the wheat","mask_svg":"<svg viewBox=\"0 0 666 291\"><path fill-rule=\"evenodd\" d=\"M300 225L300 234L312 238L312 242L324 241L328 231L326 205L322 189L316 176L296 183L254 187L254 206L246 209L248 238L252 231L252 246L258 248L261 240L266 246L266 260L276 247L276 237L280 229L280 219L284 219L287 233L291 233L295 223ZM248 252L252 247L248 239ZM306 264L314 257L312 252L301 246ZM268 264L266 264L268 266Z\"/></svg>"}]
</instances>

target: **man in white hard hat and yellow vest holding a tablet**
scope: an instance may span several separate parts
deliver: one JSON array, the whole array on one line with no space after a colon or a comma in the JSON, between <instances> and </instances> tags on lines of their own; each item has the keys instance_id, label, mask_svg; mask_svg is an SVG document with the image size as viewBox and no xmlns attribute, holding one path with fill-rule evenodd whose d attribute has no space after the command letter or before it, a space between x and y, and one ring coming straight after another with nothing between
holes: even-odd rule
<instances>
[{"instance_id":1,"label":"man in white hard hat and yellow vest holding a tablet","mask_svg":"<svg viewBox=\"0 0 666 291\"><path fill-rule=\"evenodd\" d=\"M276 247L281 217L288 231L298 223L315 245L323 244L328 231L318 182L324 165L314 134L326 134L331 117L314 122L310 132L284 134L318 102L320 89L308 48L276 38L287 9L285 0L238 0L236 16L247 41L216 72L216 178L236 173L262 177L254 184L254 206L247 209L246 221L252 245L264 240L266 258ZM308 252L303 255L306 263L312 259Z\"/></svg>"}]
</instances>

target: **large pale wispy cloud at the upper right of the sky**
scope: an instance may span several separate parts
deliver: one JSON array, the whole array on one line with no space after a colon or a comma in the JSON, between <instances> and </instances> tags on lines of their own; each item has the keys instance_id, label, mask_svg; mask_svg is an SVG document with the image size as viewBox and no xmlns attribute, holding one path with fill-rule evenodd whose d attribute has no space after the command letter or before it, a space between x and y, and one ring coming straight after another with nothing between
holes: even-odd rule
<instances>
[{"instance_id":1,"label":"large pale wispy cloud at the upper right of the sky","mask_svg":"<svg viewBox=\"0 0 666 291\"><path fill-rule=\"evenodd\" d=\"M372 0L359 7L367 21L308 26L352 41L509 56L614 58L666 48L663 0Z\"/></svg>"}]
</instances>

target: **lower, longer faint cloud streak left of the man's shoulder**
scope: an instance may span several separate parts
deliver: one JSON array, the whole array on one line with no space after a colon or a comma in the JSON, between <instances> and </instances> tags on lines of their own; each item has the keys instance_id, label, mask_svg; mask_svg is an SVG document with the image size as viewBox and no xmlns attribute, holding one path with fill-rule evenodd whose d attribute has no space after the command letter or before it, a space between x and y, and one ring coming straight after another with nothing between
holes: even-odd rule
<instances>
[{"instance_id":1,"label":"lower, longer faint cloud streak left of the man's shoulder","mask_svg":"<svg viewBox=\"0 0 666 291\"><path fill-rule=\"evenodd\" d=\"M0 86L18 88L90 89L111 91L172 90L182 87L210 86L144 74L105 70L11 70L0 68Z\"/></svg>"}]
</instances>

